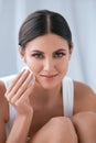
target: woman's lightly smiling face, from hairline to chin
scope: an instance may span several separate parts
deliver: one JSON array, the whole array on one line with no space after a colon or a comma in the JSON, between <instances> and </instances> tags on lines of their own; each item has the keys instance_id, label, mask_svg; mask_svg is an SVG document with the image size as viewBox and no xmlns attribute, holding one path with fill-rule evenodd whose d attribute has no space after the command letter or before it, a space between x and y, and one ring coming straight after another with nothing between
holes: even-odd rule
<instances>
[{"instance_id":1,"label":"woman's lightly smiling face, from hairline to chin","mask_svg":"<svg viewBox=\"0 0 96 143\"><path fill-rule=\"evenodd\" d=\"M20 54L33 70L36 81L49 89L61 84L66 75L71 53L66 40L46 34L29 42Z\"/></svg>"}]
</instances>

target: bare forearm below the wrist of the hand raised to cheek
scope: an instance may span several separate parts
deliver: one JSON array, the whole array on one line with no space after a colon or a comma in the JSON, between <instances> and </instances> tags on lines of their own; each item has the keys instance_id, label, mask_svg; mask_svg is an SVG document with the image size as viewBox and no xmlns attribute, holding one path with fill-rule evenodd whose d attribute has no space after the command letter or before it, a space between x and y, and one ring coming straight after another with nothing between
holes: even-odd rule
<instances>
[{"instance_id":1,"label":"bare forearm below the wrist of the hand raised to cheek","mask_svg":"<svg viewBox=\"0 0 96 143\"><path fill-rule=\"evenodd\" d=\"M19 116L12 127L6 143L26 143L29 129L32 122L32 113Z\"/></svg>"}]
</instances>

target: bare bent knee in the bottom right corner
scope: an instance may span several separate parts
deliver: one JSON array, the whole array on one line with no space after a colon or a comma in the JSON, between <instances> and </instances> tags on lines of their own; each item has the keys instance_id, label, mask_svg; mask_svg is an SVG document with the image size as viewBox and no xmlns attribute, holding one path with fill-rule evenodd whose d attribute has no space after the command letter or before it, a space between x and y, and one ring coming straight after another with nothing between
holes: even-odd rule
<instances>
[{"instance_id":1,"label":"bare bent knee in the bottom right corner","mask_svg":"<svg viewBox=\"0 0 96 143\"><path fill-rule=\"evenodd\" d=\"M85 111L72 117L79 143L96 143L96 113Z\"/></svg>"}]
</instances>

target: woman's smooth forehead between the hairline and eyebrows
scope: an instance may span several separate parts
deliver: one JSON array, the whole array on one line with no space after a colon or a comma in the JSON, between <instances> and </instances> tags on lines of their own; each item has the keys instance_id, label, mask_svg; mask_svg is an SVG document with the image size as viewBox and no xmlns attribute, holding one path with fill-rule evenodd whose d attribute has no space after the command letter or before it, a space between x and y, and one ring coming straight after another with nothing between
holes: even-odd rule
<instances>
[{"instance_id":1,"label":"woman's smooth forehead between the hairline and eyebrows","mask_svg":"<svg viewBox=\"0 0 96 143\"><path fill-rule=\"evenodd\" d=\"M45 34L39 36L26 44L26 50L68 50L67 41L55 34Z\"/></svg>"}]
</instances>

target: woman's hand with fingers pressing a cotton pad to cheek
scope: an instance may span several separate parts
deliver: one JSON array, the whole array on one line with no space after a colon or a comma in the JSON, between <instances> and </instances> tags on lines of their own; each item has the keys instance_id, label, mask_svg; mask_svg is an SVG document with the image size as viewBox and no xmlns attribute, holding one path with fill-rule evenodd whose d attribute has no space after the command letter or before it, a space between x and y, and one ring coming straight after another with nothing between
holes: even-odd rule
<instances>
[{"instance_id":1,"label":"woman's hand with fingers pressing a cotton pad to cheek","mask_svg":"<svg viewBox=\"0 0 96 143\"><path fill-rule=\"evenodd\" d=\"M17 109L18 114L33 113L29 100L33 90L32 79L33 74L29 69L24 69L17 76L6 92L7 100Z\"/></svg>"}]
</instances>

